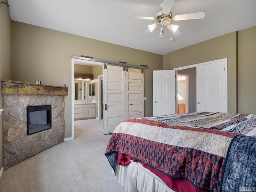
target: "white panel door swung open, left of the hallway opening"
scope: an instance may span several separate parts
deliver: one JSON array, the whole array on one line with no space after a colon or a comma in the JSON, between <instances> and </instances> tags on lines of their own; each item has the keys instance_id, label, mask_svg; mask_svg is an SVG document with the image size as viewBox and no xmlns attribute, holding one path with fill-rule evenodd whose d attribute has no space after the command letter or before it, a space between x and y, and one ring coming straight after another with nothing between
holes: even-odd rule
<instances>
[{"instance_id":1,"label":"white panel door swung open, left of the hallway opening","mask_svg":"<svg viewBox=\"0 0 256 192\"><path fill-rule=\"evenodd\" d=\"M175 71L153 71L153 116L176 113Z\"/></svg>"}]
</instances>

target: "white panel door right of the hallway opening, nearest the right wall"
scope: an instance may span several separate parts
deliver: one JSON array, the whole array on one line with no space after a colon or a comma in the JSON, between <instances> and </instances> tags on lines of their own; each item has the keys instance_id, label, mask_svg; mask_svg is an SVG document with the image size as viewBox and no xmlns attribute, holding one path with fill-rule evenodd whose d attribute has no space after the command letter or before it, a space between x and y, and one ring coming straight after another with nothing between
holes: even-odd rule
<instances>
[{"instance_id":1,"label":"white panel door right of the hallway opening, nearest the right wall","mask_svg":"<svg viewBox=\"0 0 256 192\"><path fill-rule=\"evenodd\" d=\"M227 112L225 62L196 67L196 111Z\"/></svg>"}]
</instances>

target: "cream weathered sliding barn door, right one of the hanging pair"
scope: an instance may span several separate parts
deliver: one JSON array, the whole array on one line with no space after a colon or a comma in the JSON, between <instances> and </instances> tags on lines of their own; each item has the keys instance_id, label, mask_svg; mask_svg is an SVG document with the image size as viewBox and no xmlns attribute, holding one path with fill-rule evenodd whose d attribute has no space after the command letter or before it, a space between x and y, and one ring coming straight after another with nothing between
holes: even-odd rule
<instances>
[{"instance_id":1,"label":"cream weathered sliding barn door, right one of the hanging pair","mask_svg":"<svg viewBox=\"0 0 256 192\"><path fill-rule=\"evenodd\" d=\"M144 117L144 73L141 69L126 70L126 119Z\"/></svg>"}]
</instances>

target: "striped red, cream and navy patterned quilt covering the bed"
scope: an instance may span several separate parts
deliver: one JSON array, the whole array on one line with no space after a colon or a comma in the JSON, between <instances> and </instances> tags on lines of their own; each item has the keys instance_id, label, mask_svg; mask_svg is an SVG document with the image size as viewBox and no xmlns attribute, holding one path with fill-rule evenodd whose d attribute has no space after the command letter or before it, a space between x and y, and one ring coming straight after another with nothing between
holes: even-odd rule
<instances>
[{"instance_id":1,"label":"striped red, cream and navy patterned quilt covering the bed","mask_svg":"<svg viewBox=\"0 0 256 192\"><path fill-rule=\"evenodd\" d=\"M194 187L208 192L239 192L239 187L254 187L256 138L236 132L254 134L256 126L253 123L246 126L244 122L254 121L255 116L227 114L226 117L223 113L214 113L218 116L217 122L212 118L205 121L211 114L187 114L185 121L178 115L126 120L113 132L105 155L114 170L118 154L124 154L168 177L188 180ZM193 126L192 121L197 125ZM226 126L228 121L236 124ZM199 127L199 124L209 124L209 127ZM219 127L225 124L226 131L216 130L216 124Z\"/></svg>"}]
</instances>

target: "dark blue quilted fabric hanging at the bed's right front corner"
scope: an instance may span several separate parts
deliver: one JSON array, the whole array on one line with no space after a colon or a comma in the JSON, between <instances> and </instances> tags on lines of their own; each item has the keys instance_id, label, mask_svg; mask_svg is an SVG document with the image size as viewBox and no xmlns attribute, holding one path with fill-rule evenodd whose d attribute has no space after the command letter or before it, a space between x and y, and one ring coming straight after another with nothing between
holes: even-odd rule
<instances>
[{"instance_id":1,"label":"dark blue quilted fabric hanging at the bed's right front corner","mask_svg":"<svg viewBox=\"0 0 256 192\"><path fill-rule=\"evenodd\" d=\"M256 138L238 135L230 144L222 192L239 192L256 187Z\"/></svg>"}]
</instances>

